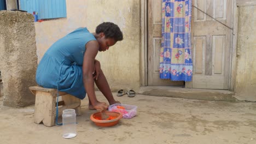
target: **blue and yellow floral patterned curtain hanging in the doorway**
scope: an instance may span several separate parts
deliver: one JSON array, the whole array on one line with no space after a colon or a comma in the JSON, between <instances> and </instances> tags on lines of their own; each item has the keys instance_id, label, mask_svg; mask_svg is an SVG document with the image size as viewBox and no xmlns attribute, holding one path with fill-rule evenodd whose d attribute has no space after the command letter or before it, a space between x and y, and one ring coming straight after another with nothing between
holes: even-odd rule
<instances>
[{"instance_id":1,"label":"blue and yellow floral patterned curtain hanging in the doorway","mask_svg":"<svg viewBox=\"0 0 256 144\"><path fill-rule=\"evenodd\" d=\"M192 0L162 0L160 79L191 81Z\"/></svg>"}]
</instances>

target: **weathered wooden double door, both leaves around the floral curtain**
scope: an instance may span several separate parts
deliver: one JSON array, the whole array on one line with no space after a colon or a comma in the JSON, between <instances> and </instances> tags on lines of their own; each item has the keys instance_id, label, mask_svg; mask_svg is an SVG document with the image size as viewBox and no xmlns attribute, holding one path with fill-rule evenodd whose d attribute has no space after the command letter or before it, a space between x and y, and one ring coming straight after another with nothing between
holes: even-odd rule
<instances>
[{"instance_id":1,"label":"weathered wooden double door, both leaves around the floral curtain","mask_svg":"<svg viewBox=\"0 0 256 144\"><path fill-rule=\"evenodd\" d=\"M146 76L148 86L229 89L232 3L233 0L193 0L191 20L193 81L184 82L159 78L162 1L148 0Z\"/></svg>"}]
</instances>

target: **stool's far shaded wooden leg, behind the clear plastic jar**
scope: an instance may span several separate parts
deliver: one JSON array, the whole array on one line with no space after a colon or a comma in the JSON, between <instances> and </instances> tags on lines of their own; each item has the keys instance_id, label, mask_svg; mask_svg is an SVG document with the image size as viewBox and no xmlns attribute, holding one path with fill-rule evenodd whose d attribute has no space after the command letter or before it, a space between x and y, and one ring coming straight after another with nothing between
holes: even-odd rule
<instances>
[{"instance_id":1,"label":"stool's far shaded wooden leg, behind the clear plastic jar","mask_svg":"<svg viewBox=\"0 0 256 144\"><path fill-rule=\"evenodd\" d=\"M71 105L74 103L78 103L78 106L75 107L75 113L77 113L77 116L82 115L82 110L81 110L81 100L77 97L74 97L73 95L70 94L66 94L66 95L62 95L62 100L64 101L65 105Z\"/></svg>"}]
</instances>

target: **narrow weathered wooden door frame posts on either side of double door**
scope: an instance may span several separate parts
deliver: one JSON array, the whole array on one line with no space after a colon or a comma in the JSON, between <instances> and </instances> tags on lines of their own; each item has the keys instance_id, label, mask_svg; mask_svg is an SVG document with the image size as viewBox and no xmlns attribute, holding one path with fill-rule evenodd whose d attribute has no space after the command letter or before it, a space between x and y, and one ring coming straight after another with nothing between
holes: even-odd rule
<instances>
[{"instance_id":1,"label":"narrow weathered wooden door frame posts on either side of double door","mask_svg":"<svg viewBox=\"0 0 256 144\"><path fill-rule=\"evenodd\" d=\"M238 0L239 1L239 0ZM237 28L238 28L238 8L237 0L232 1L232 38L231 38L231 48L230 48L230 72L229 72L229 91L235 91L236 83L236 56L239 50L236 50L237 46ZM139 75L140 75L140 86L148 86L148 32L147 23L148 22L148 0L141 0L141 49L140 49L140 59L139 59ZM191 28L191 31L193 29ZM191 41L192 42L192 41ZM185 88L191 88L192 82L185 82Z\"/></svg>"}]
</instances>

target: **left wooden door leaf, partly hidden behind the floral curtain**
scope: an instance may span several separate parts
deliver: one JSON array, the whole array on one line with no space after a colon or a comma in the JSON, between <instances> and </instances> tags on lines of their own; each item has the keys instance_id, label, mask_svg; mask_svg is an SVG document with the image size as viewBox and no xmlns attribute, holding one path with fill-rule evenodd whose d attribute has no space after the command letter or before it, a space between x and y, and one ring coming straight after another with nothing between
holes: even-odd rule
<instances>
[{"instance_id":1,"label":"left wooden door leaf, partly hidden behind the floral curtain","mask_svg":"<svg viewBox=\"0 0 256 144\"><path fill-rule=\"evenodd\" d=\"M148 0L148 86L184 85L184 81L159 78L162 0Z\"/></svg>"}]
</instances>

